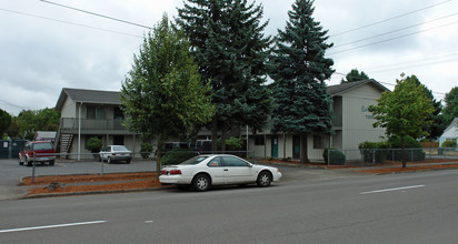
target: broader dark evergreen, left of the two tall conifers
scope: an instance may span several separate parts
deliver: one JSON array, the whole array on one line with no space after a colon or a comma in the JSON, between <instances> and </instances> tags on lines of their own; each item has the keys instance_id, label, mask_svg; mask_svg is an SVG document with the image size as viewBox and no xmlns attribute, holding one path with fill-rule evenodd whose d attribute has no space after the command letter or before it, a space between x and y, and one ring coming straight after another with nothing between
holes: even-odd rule
<instances>
[{"instance_id":1,"label":"broader dark evergreen, left of the two tall conifers","mask_svg":"<svg viewBox=\"0 0 458 244\"><path fill-rule=\"evenodd\" d=\"M270 112L263 83L271 41L262 34L267 26L261 23L262 6L247 0L188 0L178 12L177 23L190 38L202 79L212 84L212 150L218 131L225 150L231 128L261 129Z\"/></svg>"}]
</instances>

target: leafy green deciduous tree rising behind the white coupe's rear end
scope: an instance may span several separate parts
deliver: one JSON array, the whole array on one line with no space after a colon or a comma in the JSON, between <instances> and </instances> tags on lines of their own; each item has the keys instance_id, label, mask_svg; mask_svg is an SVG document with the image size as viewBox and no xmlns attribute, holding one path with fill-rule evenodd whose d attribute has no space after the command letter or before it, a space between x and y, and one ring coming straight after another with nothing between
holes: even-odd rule
<instances>
[{"instance_id":1,"label":"leafy green deciduous tree rising behind the white coupe's rear end","mask_svg":"<svg viewBox=\"0 0 458 244\"><path fill-rule=\"evenodd\" d=\"M157 136L157 164L170 136L186 134L213 115L211 87L200 80L187 38L167 16L143 40L121 88L126 125L146 138Z\"/></svg>"}]
</instances>

